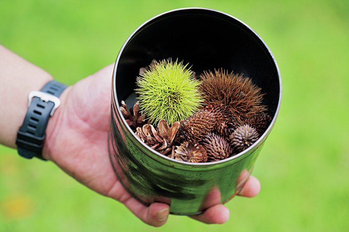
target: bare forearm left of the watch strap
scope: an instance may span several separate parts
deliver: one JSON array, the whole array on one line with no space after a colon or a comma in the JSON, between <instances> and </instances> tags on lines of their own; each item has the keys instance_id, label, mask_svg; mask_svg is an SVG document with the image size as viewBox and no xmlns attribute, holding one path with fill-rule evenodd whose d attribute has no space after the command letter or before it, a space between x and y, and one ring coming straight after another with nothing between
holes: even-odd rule
<instances>
[{"instance_id":1,"label":"bare forearm left of the watch strap","mask_svg":"<svg viewBox=\"0 0 349 232\"><path fill-rule=\"evenodd\" d=\"M17 130L28 109L28 94L52 77L0 45L0 144L16 148Z\"/></svg>"}]
</instances>

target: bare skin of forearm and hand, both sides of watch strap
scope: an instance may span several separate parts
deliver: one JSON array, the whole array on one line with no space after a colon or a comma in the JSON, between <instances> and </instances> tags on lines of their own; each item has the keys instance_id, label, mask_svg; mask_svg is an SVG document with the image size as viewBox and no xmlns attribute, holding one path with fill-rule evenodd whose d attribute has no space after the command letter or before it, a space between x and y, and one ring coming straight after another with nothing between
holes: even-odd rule
<instances>
[{"instance_id":1,"label":"bare skin of forearm and hand, both sides of watch strap","mask_svg":"<svg viewBox=\"0 0 349 232\"><path fill-rule=\"evenodd\" d=\"M159 227L168 220L169 205L155 202L147 207L138 202L123 188L110 163L112 72L113 65L108 65L63 91L61 105L48 120L43 157L89 189L122 202L143 222ZM0 45L1 144L16 148L16 134L27 112L29 92L40 90L52 79L43 69ZM250 176L239 195L253 197L260 188L258 179ZM222 224L229 219L229 209L217 204L190 217L207 224Z\"/></svg>"}]
</instances>

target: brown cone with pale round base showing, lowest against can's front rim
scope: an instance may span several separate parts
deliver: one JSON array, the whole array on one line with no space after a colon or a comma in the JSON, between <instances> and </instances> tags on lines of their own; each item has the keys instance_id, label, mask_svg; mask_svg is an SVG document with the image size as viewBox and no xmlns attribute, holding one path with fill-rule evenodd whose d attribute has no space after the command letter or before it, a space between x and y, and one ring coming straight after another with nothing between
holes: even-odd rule
<instances>
[{"instance_id":1,"label":"brown cone with pale round base showing, lowest against can's front rim","mask_svg":"<svg viewBox=\"0 0 349 232\"><path fill-rule=\"evenodd\" d=\"M176 146L174 158L191 163L202 163L207 161L207 154L201 145L184 142Z\"/></svg>"}]
</instances>

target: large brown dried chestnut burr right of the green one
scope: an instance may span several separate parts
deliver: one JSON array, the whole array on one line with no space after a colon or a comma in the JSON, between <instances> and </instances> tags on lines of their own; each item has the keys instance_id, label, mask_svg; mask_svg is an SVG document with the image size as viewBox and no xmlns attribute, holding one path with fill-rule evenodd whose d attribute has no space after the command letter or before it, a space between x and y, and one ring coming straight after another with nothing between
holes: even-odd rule
<instances>
[{"instance_id":1,"label":"large brown dried chestnut burr right of the green one","mask_svg":"<svg viewBox=\"0 0 349 232\"><path fill-rule=\"evenodd\" d=\"M232 113L239 124L249 115L265 110L265 106L262 106L262 89L253 84L250 78L243 77L243 74L215 70L215 73L204 72L200 77L204 104L221 104Z\"/></svg>"}]
</instances>

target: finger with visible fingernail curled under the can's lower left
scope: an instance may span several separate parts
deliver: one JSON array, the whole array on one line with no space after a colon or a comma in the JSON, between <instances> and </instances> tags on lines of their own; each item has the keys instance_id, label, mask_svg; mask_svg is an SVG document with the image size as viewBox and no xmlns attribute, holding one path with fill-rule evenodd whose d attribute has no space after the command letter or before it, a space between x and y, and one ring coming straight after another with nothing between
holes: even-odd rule
<instances>
[{"instance_id":1,"label":"finger with visible fingernail curled under the can's lower left","mask_svg":"<svg viewBox=\"0 0 349 232\"><path fill-rule=\"evenodd\" d=\"M143 205L133 198L119 181L114 184L107 196L125 204L136 217L150 226L160 227L164 225L170 213L170 206L164 203L155 202L148 207Z\"/></svg>"}]
</instances>

